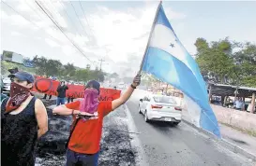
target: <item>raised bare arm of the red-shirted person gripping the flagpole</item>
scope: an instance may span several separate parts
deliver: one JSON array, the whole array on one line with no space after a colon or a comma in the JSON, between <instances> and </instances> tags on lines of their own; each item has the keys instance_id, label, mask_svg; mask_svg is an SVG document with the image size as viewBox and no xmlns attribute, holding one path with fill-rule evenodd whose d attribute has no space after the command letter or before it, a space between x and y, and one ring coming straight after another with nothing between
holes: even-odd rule
<instances>
[{"instance_id":1,"label":"raised bare arm of the red-shirted person gripping the flagpole","mask_svg":"<svg viewBox=\"0 0 256 166\"><path fill-rule=\"evenodd\" d=\"M139 86L141 83L141 75L137 75L134 77L132 84L128 87L128 90L124 92L120 98L113 100L112 102L112 109L118 108L121 104L125 104L129 97L131 96L132 92Z\"/></svg>"}]
</instances>

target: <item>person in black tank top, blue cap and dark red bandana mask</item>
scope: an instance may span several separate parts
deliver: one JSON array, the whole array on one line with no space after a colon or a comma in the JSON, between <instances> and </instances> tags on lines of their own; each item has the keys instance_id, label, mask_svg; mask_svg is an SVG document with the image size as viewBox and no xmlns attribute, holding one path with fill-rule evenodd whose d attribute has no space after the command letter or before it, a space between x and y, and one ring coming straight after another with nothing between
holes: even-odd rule
<instances>
[{"instance_id":1,"label":"person in black tank top, blue cap and dark red bandana mask","mask_svg":"<svg viewBox=\"0 0 256 166\"><path fill-rule=\"evenodd\" d=\"M34 166L38 138L48 131L46 108L30 93L34 76L10 77L10 96L1 104L1 165Z\"/></svg>"}]
</instances>

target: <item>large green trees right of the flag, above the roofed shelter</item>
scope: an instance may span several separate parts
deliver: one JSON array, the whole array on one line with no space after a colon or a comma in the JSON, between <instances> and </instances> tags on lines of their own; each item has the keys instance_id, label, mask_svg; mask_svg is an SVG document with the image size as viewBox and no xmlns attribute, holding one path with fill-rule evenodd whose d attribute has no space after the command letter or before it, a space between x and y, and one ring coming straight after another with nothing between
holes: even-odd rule
<instances>
[{"instance_id":1,"label":"large green trees right of the flag, above the roofed shelter","mask_svg":"<svg viewBox=\"0 0 256 166\"><path fill-rule=\"evenodd\" d=\"M208 42L197 38L196 62L205 81L256 87L256 45L228 37Z\"/></svg>"}]
</instances>

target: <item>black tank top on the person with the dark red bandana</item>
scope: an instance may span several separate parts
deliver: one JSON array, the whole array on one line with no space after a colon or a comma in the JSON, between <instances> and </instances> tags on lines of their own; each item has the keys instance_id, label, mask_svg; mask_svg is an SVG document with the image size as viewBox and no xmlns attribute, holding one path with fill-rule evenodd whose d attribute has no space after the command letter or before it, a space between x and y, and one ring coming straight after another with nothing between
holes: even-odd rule
<instances>
[{"instance_id":1,"label":"black tank top on the person with the dark red bandana","mask_svg":"<svg viewBox=\"0 0 256 166\"><path fill-rule=\"evenodd\" d=\"M34 166L38 140L36 97L17 115L4 114L8 99L1 104L1 165Z\"/></svg>"}]
</instances>

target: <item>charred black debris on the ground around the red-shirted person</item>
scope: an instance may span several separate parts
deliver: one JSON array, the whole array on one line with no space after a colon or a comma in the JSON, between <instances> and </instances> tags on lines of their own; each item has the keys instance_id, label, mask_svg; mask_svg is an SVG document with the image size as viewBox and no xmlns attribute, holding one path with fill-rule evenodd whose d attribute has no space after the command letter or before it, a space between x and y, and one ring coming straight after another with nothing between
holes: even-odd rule
<instances>
[{"instance_id":1,"label":"charred black debris on the ground around the red-shirted person","mask_svg":"<svg viewBox=\"0 0 256 166\"><path fill-rule=\"evenodd\" d=\"M46 105L53 101L43 101ZM49 131L38 141L36 165L65 165L66 143L68 141L71 117L53 116L52 109L47 109ZM101 150L98 159L99 166L133 166L135 165L136 149L130 145L130 136L126 123L116 123L123 110L116 110L104 119L104 129L101 140ZM106 125L107 126L106 126Z\"/></svg>"}]
</instances>

